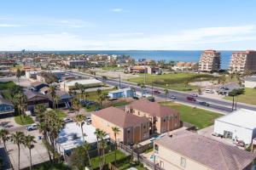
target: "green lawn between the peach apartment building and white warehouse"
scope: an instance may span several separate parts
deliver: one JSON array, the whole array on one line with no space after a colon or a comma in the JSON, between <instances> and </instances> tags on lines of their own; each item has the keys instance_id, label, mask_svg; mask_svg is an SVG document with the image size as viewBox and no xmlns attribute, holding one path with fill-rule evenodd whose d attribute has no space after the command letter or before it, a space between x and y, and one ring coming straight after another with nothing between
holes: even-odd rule
<instances>
[{"instance_id":1,"label":"green lawn between the peach apartment building and white warehouse","mask_svg":"<svg viewBox=\"0 0 256 170\"><path fill-rule=\"evenodd\" d=\"M219 113L203 109L193 108L188 105L181 105L173 102L161 102L161 105L167 105L172 109L179 111L181 121L194 124L198 129L211 126Z\"/></svg>"}]
</instances>

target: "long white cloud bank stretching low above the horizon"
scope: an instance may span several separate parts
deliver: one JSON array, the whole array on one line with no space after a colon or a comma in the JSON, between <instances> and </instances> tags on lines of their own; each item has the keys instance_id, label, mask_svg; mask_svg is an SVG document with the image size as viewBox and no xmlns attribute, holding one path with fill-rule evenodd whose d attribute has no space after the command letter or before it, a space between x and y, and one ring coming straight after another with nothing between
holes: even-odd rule
<instances>
[{"instance_id":1,"label":"long white cloud bank stretching low above the horizon","mask_svg":"<svg viewBox=\"0 0 256 170\"><path fill-rule=\"evenodd\" d=\"M0 50L247 49L256 48L256 26L207 27L148 35L115 32L80 37L57 34L0 35Z\"/></svg>"}]
</instances>

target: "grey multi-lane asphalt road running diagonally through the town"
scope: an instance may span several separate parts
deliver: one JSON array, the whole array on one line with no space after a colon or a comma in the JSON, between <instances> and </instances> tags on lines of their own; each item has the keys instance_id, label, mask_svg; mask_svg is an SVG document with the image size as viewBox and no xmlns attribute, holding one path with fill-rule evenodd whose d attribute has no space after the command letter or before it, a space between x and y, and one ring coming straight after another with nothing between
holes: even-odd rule
<instances>
[{"instance_id":1,"label":"grey multi-lane asphalt road running diagonally through the town","mask_svg":"<svg viewBox=\"0 0 256 170\"><path fill-rule=\"evenodd\" d=\"M93 77L92 75L87 75L84 73L79 73L79 72L73 72L73 71L69 71L70 74L74 75L74 76L79 76L79 77ZM119 87L119 80L115 80L115 79L108 79L106 81L102 80L102 77L97 77L97 79L106 82L109 85L112 86L118 86ZM132 82L121 82L121 88L135 88L136 91L142 91L142 88L138 87L137 84L132 83ZM145 88L148 92L148 94L151 94L152 88L149 86L146 86ZM164 89L163 88L157 88L157 87L153 87L153 90L158 90L160 91L160 94L154 94L154 96L158 96L158 97L162 97L162 98L166 98L166 94L164 93ZM173 91L173 90L169 90L169 96L170 95L174 95L176 97L176 100L178 102L182 102L184 104L189 104L189 105L195 105L195 106L201 106L201 107L205 107L207 109L212 109L215 111L221 111L224 113L230 113L232 111L232 102L224 100L224 99L211 99L211 98L206 98L206 97L201 97L198 96L196 98L197 101L195 102L190 102L187 97L189 96L189 94L183 93L183 92L177 92L177 91ZM205 101L208 104L210 104L210 106L202 106L199 105L198 101ZM241 103L237 103L236 104L236 109L248 109L248 110L253 110L256 111L256 106L254 105L246 105L246 104L241 104Z\"/></svg>"}]
</instances>

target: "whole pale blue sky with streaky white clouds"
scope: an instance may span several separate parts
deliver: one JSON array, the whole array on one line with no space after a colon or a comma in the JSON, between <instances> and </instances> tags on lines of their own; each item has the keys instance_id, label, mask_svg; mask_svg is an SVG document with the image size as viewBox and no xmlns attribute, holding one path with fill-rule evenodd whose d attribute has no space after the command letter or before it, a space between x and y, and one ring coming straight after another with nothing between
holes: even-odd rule
<instances>
[{"instance_id":1,"label":"whole pale blue sky with streaky white clouds","mask_svg":"<svg viewBox=\"0 0 256 170\"><path fill-rule=\"evenodd\" d=\"M1 0L0 50L256 49L254 0Z\"/></svg>"}]
</instances>

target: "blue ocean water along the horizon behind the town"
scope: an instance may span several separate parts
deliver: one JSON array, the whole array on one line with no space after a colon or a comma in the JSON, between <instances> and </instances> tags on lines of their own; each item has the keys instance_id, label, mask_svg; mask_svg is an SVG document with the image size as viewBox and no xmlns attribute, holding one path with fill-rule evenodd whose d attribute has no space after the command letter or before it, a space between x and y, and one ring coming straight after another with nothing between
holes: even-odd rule
<instances>
[{"instance_id":1,"label":"blue ocean water along the horizon behind the town","mask_svg":"<svg viewBox=\"0 0 256 170\"><path fill-rule=\"evenodd\" d=\"M232 51L221 52L221 67L227 69L230 65L230 56ZM179 51L179 50L117 50L117 51L47 51L43 53L55 54L117 54L130 55L134 59L165 59L166 61L193 61L198 62L202 51Z\"/></svg>"}]
</instances>

